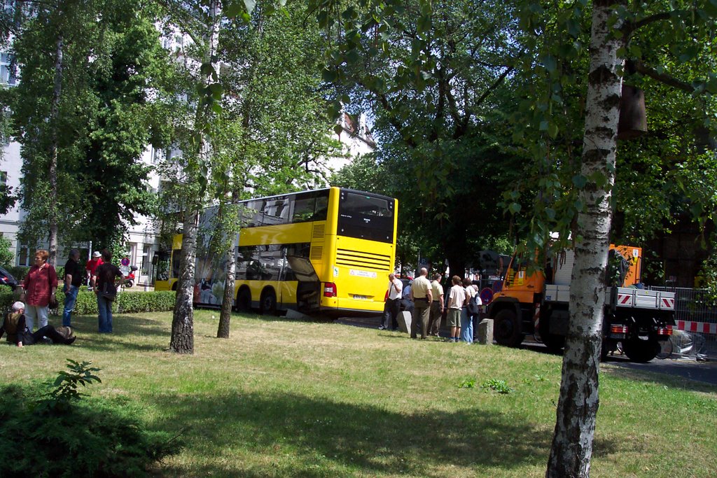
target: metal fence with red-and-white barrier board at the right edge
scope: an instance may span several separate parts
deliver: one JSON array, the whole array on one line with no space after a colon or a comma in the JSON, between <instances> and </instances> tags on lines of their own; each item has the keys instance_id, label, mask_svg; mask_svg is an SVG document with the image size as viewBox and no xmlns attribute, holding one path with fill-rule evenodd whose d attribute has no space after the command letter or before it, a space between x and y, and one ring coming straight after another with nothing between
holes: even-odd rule
<instances>
[{"instance_id":1,"label":"metal fence with red-and-white barrier board at the right edge","mask_svg":"<svg viewBox=\"0 0 717 478\"><path fill-rule=\"evenodd\" d=\"M670 340L672 357L717 359L717 307L703 289L688 287L649 287L675 292L675 333Z\"/></svg>"}]
</instances>

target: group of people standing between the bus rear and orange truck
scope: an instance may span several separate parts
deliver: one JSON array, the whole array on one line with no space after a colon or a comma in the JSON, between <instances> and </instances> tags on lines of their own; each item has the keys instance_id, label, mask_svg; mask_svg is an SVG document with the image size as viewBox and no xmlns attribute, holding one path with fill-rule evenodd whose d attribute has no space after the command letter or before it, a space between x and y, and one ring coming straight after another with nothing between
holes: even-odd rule
<instances>
[{"instance_id":1,"label":"group of people standing between the bus rear and orange truck","mask_svg":"<svg viewBox=\"0 0 717 478\"><path fill-rule=\"evenodd\" d=\"M428 338L429 335L439 336L443 312L447 309L446 321L450 327L448 342L473 343L473 321L480 316L480 300L478 286L470 279L461 279L457 275L451 279L447 300L441 285L441 274L435 274L433 280L428 279L428 270L424 267L419 277L409 285L409 300L413 302L411 338ZM379 328L388 328L390 318L393 329L398 326L402 300L402 282L395 274L389 274L389 290L384 307L384 319Z\"/></svg>"}]
</instances>

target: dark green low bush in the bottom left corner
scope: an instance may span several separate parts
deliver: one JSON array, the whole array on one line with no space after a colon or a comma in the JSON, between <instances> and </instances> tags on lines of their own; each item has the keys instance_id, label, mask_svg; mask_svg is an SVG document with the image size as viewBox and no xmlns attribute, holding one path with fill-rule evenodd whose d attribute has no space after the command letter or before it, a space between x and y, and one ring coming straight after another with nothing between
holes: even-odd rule
<instances>
[{"instance_id":1,"label":"dark green low bush in the bottom left corner","mask_svg":"<svg viewBox=\"0 0 717 478\"><path fill-rule=\"evenodd\" d=\"M54 388L34 383L0 388L0 460L4 477L145 477L179 451L168 434L149 431L133 401L87 398L77 385L100 382L89 362L69 360ZM82 398L82 399L80 399Z\"/></svg>"}]
</instances>

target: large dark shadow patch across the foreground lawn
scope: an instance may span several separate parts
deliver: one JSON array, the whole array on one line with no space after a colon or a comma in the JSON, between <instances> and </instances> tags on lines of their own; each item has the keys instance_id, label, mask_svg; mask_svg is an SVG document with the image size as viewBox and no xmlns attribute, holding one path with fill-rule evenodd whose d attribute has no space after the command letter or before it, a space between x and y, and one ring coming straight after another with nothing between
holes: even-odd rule
<instances>
[{"instance_id":1,"label":"large dark shadow patch across the foreground lawn","mask_svg":"<svg viewBox=\"0 0 717 478\"><path fill-rule=\"evenodd\" d=\"M156 405L181 417L179 423L158 424L161 429L188 427L189 454L217 457L222 463L231 462L226 455L237 449L257 455L257 465L234 465L232 472L243 477L281 475L286 472L282 466L291 467L291 476L302 477L327 476L338 469L351 475L431 476L450 466L540 466L547 462L552 438L531 424L478 406L451 414L400 414L280 393L163 396ZM609 454L614 445L601 441L595 450L596 455ZM194 476L218 472L212 465L198 468L165 471Z\"/></svg>"}]
</instances>

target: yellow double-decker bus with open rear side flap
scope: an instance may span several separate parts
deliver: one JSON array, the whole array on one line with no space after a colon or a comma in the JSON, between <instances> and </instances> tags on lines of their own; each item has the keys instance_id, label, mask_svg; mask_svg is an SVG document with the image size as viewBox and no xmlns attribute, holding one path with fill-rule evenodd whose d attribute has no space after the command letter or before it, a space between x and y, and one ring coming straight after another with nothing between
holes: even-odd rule
<instances>
[{"instance_id":1,"label":"yellow double-decker bus with open rear side flap","mask_svg":"<svg viewBox=\"0 0 717 478\"><path fill-rule=\"evenodd\" d=\"M398 201L344 188L242 201L234 307L262 313L298 310L327 315L381 312L394 270ZM225 254L209 248L212 216L201 215L194 302L219 306ZM181 234L158 254L155 290L176 290Z\"/></svg>"}]
</instances>

